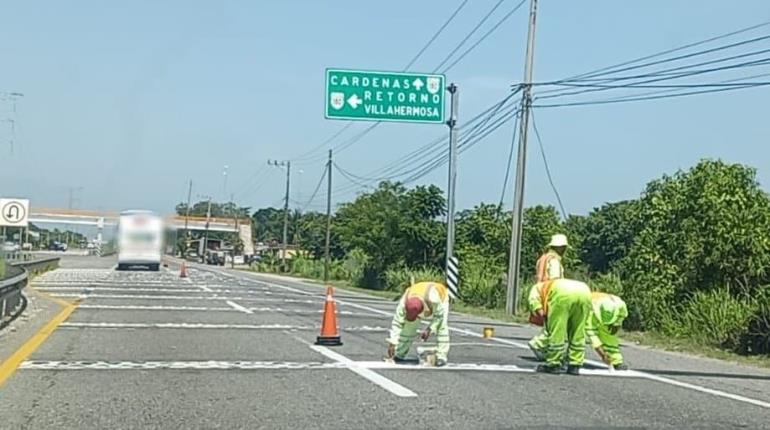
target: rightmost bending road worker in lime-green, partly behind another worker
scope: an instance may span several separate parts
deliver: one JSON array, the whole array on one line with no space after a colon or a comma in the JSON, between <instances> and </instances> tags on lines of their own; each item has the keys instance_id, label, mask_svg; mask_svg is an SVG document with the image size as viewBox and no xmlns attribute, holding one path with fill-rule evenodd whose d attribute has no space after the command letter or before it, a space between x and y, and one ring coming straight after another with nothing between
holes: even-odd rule
<instances>
[{"instance_id":1,"label":"rightmost bending road worker in lime-green, partly behind another worker","mask_svg":"<svg viewBox=\"0 0 770 430\"><path fill-rule=\"evenodd\" d=\"M620 297L591 293L591 315L586 321L586 335L602 361L615 370L628 370L616 336L627 316L628 308Z\"/></svg>"}]
</instances>

